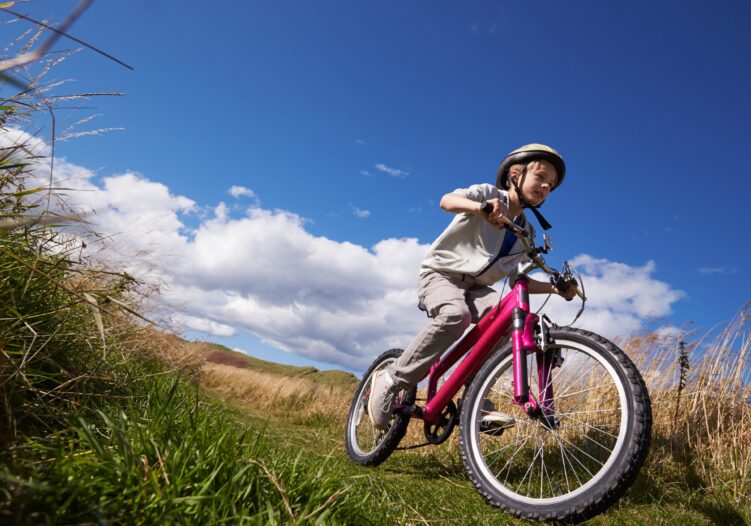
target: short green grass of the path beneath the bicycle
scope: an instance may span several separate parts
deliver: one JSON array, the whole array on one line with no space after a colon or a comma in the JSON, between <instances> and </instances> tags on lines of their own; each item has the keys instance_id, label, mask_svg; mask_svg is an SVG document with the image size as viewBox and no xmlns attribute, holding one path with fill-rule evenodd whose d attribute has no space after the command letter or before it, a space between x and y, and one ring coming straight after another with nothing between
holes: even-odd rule
<instances>
[{"instance_id":1,"label":"short green grass of the path beneath the bicycle","mask_svg":"<svg viewBox=\"0 0 751 526\"><path fill-rule=\"evenodd\" d=\"M364 468L344 451L343 424L292 424L288 416L269 422L265 434L288 451L302 451L341 473L341 485L362 496L362 506L378 524L530 524L488 506L465 475L459 445L452 437L441 446L395 452L384 464ZM419 422L410 425L418 426ZM407 443L410 445L414 443ZM706 481L687 480L685 468L666 462L657 444L634 486L614 507L587 524L746 524L751 508L729 495L706 489Z\"/></svg>"}]
</instances>

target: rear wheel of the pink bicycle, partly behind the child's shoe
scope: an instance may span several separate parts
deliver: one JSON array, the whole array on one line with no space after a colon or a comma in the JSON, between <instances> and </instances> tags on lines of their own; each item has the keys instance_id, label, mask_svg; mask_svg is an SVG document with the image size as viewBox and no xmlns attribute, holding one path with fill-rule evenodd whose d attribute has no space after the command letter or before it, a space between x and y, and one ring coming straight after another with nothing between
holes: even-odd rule
<instances>
[{"instance_id":1,"label":"rear wheel of the pink bicycle, partly behind the child's shoe","mask_svg":"<svg viewBox=\"0 0 751 526\"><path fill-rule=\"evenodd\" d=\"M345 443L349 457L363 466L377 466L386 460L407 432L408 416L392 416L389 429L383 431L373 425L368 415L368 399L373 375L376 371L394 363L402 352L404 351L401 349L391 349L376 358L363 375L352 400L347 417ZM401 395L403 404L414 403L415 389L402 392Z\"/></svg>"}]
</instances>

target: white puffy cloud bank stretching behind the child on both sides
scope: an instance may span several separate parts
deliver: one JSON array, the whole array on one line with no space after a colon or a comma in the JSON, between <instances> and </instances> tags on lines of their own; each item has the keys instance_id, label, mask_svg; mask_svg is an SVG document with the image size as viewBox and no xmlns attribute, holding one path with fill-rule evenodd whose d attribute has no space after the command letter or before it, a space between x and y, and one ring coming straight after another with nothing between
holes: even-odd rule
<instances>
[{"instance_id":1,"label":"white puffy cloud bank stretching behind the child on both sides","mask_svg":"<svg viewBox=\"0 0 751 526\"><path fill-rule=\"evenodd\" d=\"M5 135L0 145L13 139ZM49 151L43 141L36 147ZM40 164L39 180L48 173ZM69 203L93 209L94 228L111 236L103 253L158 283L160 304L174 309L171 318L186 329L244 332L278 349L362 370L384 350L405 347L426 321L415 285L428 245L417 239L372 246L334 241L312 234L291 211L252 204L230 216L224 203L198 204L135 172L97 176L58 159L55 173L55 184L65 179L75 189ZM653 262L631 267L582 255L573 263L590 298L578 325L610 338L667 316L683 295L654 278ZM545 310L567 323L576 306L552 298Z\"/></svg>"}]
</instances>

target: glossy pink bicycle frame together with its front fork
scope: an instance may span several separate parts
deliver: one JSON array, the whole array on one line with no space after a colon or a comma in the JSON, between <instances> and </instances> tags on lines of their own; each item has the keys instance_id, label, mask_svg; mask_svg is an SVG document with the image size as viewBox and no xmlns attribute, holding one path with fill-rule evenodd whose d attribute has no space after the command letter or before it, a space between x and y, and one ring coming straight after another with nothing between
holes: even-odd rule
<instances>
[{"instance_id":1,"label":"glossy pink bicycle frame together with its front fork","mask_svg":"<svg viewBox=\"0 0 751 526\"><path fill-rule=\"evenodd\" d=\"M514 371L514 403L519 405L528 415L540 414L551 417L553 409L553 387L550 382L550 372L555 366L554 357L538 348L535 342L535 325L540 318L530 312L528 278L520 274L514 288L503 297L462 339L449 353L438 360L428 373L428 397L425 408L420 417L430 423L437 424L441 414L451 399L456 396L462 386L480 369L490 353L498 345L509 329L512 329L512 355ZM543 345L545 339L543 328ZM538 385L541 386L540 402L529 391L527 381L526 355L536 352ZM441 378L462 356L467 354L456 370L446 379L440 389L437 389L438 379Z\"/></svg>"}]
</instances>

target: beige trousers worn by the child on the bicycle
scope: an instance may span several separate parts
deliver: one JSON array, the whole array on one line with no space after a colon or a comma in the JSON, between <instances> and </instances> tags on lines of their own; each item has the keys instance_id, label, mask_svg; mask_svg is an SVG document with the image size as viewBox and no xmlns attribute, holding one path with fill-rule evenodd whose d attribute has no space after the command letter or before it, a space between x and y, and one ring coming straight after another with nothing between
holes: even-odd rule
<instances>
[{"instance_id":1,"label":"beige trousers worn by the child on the bicycle","mask_svg":"<svg viewBox=\"0 0 751 526\"><path fill-rule=\"evenodd\" d=\"M500 299L495 290L475 284L471 277L461 279L434 271L420 276L417 296L431 320L389 368L402 389L417 385L467 327L477 323Z\"/></svg>"}]
</instances>

